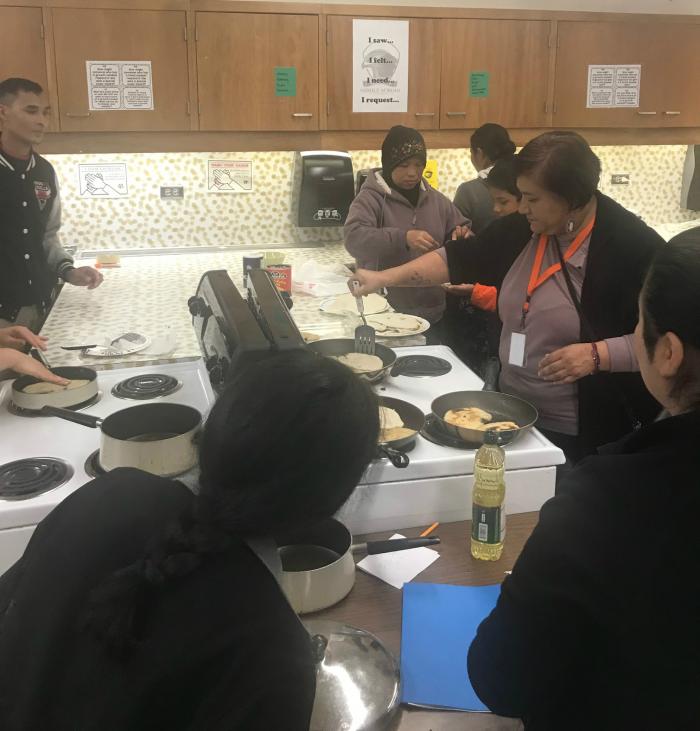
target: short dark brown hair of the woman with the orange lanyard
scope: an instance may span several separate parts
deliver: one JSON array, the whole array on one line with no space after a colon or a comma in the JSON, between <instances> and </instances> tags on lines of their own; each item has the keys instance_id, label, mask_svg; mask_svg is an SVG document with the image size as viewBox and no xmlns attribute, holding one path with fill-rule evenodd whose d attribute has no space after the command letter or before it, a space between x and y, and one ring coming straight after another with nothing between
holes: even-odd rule
<instances>
[{"instance_id":1,"label":"short dark brown hair of the woman with the orange lanyard","mask_svg":"<svg viewBox=\"0 0 700 731\"><path fill-rule=\"evenodd\" d=\"M588 203L600 181L600 160L576 132L545 132L515 156L516 176L534 177L571 210Z\"/></svg>"}]
</instances>

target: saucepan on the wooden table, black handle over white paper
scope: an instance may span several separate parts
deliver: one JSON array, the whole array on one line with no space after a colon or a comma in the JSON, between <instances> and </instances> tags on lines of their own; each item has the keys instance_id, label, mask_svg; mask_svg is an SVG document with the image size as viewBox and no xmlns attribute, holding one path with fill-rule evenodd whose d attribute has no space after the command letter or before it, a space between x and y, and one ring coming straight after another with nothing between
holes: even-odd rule
<instances>
[{"instance_id":1,"label":"saucepan on the wooden table, black handle over white paper","mask_svg":"<svg viewBox=\"0 0 700 731\"><path fill-rule=\"evenodd\" d=\"M355 584L354 554L389 553L440 543L429 538L398 538L353 545L350 531L335 518L276 537L282 561L282 589L298 614L327 609Z\"/></svg>"}]
</instances>

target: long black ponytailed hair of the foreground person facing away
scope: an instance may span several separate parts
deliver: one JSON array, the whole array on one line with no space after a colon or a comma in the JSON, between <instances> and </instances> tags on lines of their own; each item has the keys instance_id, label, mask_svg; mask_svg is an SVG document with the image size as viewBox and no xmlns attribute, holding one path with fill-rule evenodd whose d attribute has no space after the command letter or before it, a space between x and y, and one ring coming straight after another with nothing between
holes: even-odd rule
<instances>
[{"instance_id":1,"label":"long black ponytailed hair of the foreground person facing away","mask_svg":"<svg viewBox=\"0 0 700 731\"><path fill-rule=\"evenodd\" d=\"M378 434L377 397L334 360L296 350L244 369L204 427L192 509L91 592L81 628L127 656L165 583L236 539L333 515L373 458Z\"/></svg>"}]
</instances>

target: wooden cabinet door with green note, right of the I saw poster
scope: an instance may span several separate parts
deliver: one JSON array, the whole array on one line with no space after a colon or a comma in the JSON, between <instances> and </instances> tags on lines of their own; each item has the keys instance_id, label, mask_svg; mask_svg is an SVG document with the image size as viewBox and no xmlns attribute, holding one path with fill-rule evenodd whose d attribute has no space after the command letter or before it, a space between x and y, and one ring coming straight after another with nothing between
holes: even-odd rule
<instances>
[{"instance_id":1,"label":"wooden cabinet door with green note, right of the I saw poster","mask_svg":"<svg viewBox=\"0 0 700 731\"><path fill-rule=\"evenodd\" d=\"M551 24L541 20L442 20L440 127L548 123Z\"/></svg>"}]
</instances>

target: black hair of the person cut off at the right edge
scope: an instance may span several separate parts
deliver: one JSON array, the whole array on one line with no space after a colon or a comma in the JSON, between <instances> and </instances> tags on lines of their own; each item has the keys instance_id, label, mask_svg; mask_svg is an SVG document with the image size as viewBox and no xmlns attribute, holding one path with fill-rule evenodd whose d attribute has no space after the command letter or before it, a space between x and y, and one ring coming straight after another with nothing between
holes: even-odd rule
<instances>
[{"instance_id":1,"label":"black hair of the person cut off at the right edge","mask_svg":"<svg viewBox=\"0 0 700 731\"><path fill-rule=\"evenodd\" d=\"M671 389L700 408L700 226L672 238L654 258L639 298L649 358L665 333L683 343L683 363Z\"/></svg>"}]
</instances>

